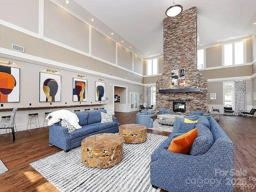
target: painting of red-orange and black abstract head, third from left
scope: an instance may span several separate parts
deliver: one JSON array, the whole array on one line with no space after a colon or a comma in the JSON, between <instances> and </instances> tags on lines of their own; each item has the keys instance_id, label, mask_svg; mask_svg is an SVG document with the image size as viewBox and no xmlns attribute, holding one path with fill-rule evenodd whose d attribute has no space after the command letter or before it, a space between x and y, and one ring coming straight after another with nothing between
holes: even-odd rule
<instances>
[{"instance_id":1,"label":"painting of red-orange and black abstract head, third from left","mask_svg":"<svg viewBox=\"0 0 256 192\"><path fill-rule=\"evenodd\" d=\"M73 101L87 101L87 80L73 77Z\"/></svg>"}]
</instances>

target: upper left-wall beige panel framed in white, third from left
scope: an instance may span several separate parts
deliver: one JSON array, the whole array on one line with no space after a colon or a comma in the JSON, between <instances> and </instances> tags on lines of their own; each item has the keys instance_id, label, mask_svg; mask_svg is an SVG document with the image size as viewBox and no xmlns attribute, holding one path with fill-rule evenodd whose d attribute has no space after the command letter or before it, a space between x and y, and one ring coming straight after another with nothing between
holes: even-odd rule
<instances>
[{"instance_id":1,"label":"upper left-wall beige panel framed in white, third from left","mask_svg":"<svg viewBox=\"0 0 256 192\"><path fill-rule=\"evenodd\" d=\"M116 42L92 28L92 55L116 64Z\"/></svg>"}]
</instances>

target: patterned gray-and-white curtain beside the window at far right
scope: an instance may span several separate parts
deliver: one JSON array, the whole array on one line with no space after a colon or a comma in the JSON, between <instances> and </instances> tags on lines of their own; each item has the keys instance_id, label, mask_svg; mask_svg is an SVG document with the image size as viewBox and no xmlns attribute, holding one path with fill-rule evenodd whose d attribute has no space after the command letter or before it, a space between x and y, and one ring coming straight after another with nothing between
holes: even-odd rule
<instances>
[{"instance_id":1,"label":"patterned gray-and-white curtain beside the window at far right","mask_svg":"<svg viewBox=\"0 0 256 192\"><path fill-rule=\"evenodd\" d=\"M239 114L240 110L247 110L246 81L234 82L234 112Z\"/></svg>"}]
</instances>

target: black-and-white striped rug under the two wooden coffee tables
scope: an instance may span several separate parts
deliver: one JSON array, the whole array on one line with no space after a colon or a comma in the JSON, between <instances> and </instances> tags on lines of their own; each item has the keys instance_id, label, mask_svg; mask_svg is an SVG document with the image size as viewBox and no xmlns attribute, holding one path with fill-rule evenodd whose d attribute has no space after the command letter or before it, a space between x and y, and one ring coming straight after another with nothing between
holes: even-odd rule
<instances>
[{"instance_id":1,"label":"black-and-white striped rug under the two wooden coffee tables","mask_svg":"<svg viewBox=\"0 0 256 192\"><path fill-rule=\"evenodd\" d=\"M124 143L122 161L106 169L81 162L81 147L30 163L61 192L160 192L150 184L150 158L166 136L147 134L140 144Z\"/></svg>"}]
</instances>

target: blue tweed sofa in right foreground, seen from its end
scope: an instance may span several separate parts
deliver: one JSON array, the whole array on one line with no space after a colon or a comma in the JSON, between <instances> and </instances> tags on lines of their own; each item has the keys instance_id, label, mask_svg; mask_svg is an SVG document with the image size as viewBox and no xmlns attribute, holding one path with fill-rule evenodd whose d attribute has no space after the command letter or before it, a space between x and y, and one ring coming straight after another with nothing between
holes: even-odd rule
<instances>
[{"instance_id":1,"label":"blue tweed sofa in right foreground, seen from its end","mask_svg":"<svg viewBox=\"0 0 256 192\"><path fill-rule=\"evenodd\" d=\"M199 117L196 127L202 124L207 125L205 132L212 133L212 145L203 154L167 150L171 140L183 134L180 129L174 130L154 151L150 165L153 187L170 192L233 192L234 144L213 117Z\"/></svg>"}]
</instances>

